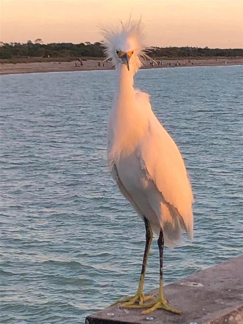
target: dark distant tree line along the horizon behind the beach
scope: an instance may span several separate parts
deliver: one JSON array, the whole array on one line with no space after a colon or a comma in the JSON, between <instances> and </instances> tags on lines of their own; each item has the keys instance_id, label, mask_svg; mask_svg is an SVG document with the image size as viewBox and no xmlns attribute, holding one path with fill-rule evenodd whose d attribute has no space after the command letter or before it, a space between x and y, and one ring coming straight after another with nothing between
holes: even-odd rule
<instances>
[{"instance_id":1,"label":"dark distant tree line along the horizon behind the beach","mask_svg":"<svg viewBox=\"0 0 243 324\"><path fill-rule=\"evenodd\" d=\"M155 57L236 57L243 56L243 49L209 49L198 47L154 47L149 55ZM41 38L34 42L27 43L3 43L0 44L1 59L11 59L14 57L104 57L102 43L90 42L72 44L72 43L51 43L43 44Z\"/></svg>"}]
</instances>

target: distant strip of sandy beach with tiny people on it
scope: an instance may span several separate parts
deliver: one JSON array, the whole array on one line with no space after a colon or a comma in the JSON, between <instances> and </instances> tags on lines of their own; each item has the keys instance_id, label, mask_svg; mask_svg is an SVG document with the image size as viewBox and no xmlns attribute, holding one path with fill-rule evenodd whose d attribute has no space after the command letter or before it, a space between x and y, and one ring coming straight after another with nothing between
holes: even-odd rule
<instances>
[{"instance_id":1,"label":"distant strip of sandy beach with tiny people on it","mask_svg":"<svg viewBox=\"0 0 243 324\"><path fill-rule=\"evenodd\" d=\"M182 67L182 66L216 66L216 65L243 65L243 58L234 59L181 59L159 60L159 64L145 63L143 68ZM62 72L62 71L87 71L87 70L111 70L111 62L87 60L72 62L35 62L35 63L1 63L0 74L36 73L36 72ZM98 66L100 63L100 66Z\"/></svg>"}]
</instances>

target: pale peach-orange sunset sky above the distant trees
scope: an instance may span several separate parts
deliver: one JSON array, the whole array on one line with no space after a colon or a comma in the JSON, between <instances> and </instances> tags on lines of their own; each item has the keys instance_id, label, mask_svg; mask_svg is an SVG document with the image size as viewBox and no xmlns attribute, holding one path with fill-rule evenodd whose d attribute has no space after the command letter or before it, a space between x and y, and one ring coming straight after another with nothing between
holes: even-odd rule
<instances>
[{"instance_id":1,"label":"pale peach-orange sunset sky above the distant trees","mask_svg":"<svg viewBox=\"0 0 243 324\"><path fill-rule=\"evenodd\" d=\"M0 41L100 42L130 15L147 46L243 48L243 0L1 0Z\"/></svg>"}]
</instances>

